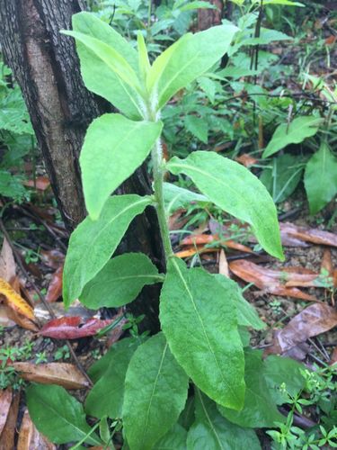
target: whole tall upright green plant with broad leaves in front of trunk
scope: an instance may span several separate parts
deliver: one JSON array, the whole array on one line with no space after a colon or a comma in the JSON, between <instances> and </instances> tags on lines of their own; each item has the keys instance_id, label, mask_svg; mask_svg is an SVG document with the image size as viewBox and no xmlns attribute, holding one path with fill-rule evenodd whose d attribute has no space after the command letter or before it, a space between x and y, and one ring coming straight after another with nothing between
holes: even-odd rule
<instances>
[{"instance_id":1,"label":"whole tall upright green plant with broad leaves in front of trunk","mask_svg":"<svg viewBox=\"0 0 337 450\"><path fill-rule=\"evenodd\" d=\"M165 173L188 176L200 190L200 194L187 191L189 198L200 201L202 195L247 222L260 245L283 258L275 205L249 170L210 151L168 162L163 157L162 109L174 94L217 64L237 29L226 23L186 34L151 65L142 34L137 36L136 50L92 14L75 14L73 28L64 33L76 40L85 85L121 113L95 119L84 139L80 164L89 217L70 238L65 306L79 298L88 308L116 308L132 302L144 285L163 283L162 331L151 338L139 337L139 318L129 317L131 337L114 344L89 369L94 384L84 408L62 388L40 390L31 385L27 391L31 419L59 444L94 440L97 445L98 422L89 429L86 413L114 420L119 439L122 425L131 449L178 448L186 439L191 448L200 439L212 440L215 448L231 440L238 447L248 440L260 448L249 428L272 427L284 420L277 405L288 397L279 386L287 381L296 395L304 383L300 365L278 356L263 361L262 352L249 347L246 328L263 329L264 323L233 281L200 267L188 268L174 257L164 203ZM111 196L149 154L154 193ZM157 213L166 274L159 274L143 254L111 259L130 221L146 207ZM187 401L190 381L195 395ZM187 408L195 410L192 417ZM71 418L69 410L74 412Z\"/></svg>"}]
</instances>

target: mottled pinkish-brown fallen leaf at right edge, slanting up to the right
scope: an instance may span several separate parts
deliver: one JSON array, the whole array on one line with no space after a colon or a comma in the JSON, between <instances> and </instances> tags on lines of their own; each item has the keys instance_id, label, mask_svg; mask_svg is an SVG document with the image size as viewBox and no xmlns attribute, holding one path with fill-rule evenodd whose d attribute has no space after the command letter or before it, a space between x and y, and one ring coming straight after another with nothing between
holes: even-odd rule
<instances>
[{"instance_id":1,"label":"mottled pinkish-brown fallen leaf at right edge, slanting up to the right","mask_svg":"<svg viewBox=\"0 0 337 450\"><path fill-rule=\"evenodd\" d=\"M314 303L291 319L284 329L275 332L273 345L265 353L284 353L336 325L337 311L326 303Z\"/></svg>"}]
</instances>

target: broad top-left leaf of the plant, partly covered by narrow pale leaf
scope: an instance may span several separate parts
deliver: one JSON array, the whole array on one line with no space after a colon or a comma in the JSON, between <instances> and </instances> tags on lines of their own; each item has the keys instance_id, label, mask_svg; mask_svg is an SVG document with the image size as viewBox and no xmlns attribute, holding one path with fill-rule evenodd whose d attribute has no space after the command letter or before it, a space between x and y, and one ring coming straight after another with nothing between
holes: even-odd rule
<instances>
[{"instance_id":1,"label":"broad top-left leaf of the plant, partly covered by narrow pale leaf","mask_svg":"<svg viewBox=\"0 0 337 450\"><path fill-rule=\"evenodd\" d=\"M123 55L129 66L137 73L137 51L132 48L120 33L114 31L108 23L102 22L94 14L82 12L72 17L75 31L102 40ZM93 93L101 95L114 104L131 119L142 118L142 109L137 102L137 92L127 85L95 53L76 42L76 49L81 62L81 74L86 87Z\"/></svg>"}]
</instances>

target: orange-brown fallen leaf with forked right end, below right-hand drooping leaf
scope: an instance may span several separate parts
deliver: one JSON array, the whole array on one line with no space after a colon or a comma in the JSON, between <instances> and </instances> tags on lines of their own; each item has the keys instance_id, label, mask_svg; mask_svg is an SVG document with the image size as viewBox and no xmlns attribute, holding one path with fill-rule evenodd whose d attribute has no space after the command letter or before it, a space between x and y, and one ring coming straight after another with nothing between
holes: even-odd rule
<instances>
[{"instance_id":1,"label":"orange-brown fallen leaf with forked right end, below right-hand drooping leaf","mask_svg":"<svg viewBox=\"0 0 337 450\"><path fill-rule=\"evenodd\" d=\"M286 297L294 297L297 299L307 300L310 302L315 302L316 299L312 295L303 293L296 287L287 287L282 284L281 281L289 281L291 278L295 278L294 274L291 272L279 271L267 269L262 266L258 266L245 259L237 259L229 264L230 270L239 278L247 283L253 283L259 289L266 293L273 293L275 295L281 295ZM295 274L296 277L300 276L313 276L313 275L301 275ZM317 275L315 275L317 277Z\"/></svg>"}]
</instances>

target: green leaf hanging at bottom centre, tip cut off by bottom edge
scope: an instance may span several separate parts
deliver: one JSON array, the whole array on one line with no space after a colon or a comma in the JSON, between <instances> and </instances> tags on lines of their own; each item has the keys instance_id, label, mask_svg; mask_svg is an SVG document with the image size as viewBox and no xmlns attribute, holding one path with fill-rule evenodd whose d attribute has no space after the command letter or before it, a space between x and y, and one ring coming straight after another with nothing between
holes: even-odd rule
<instances>
[{"instance_id":1,"label":"green leaf hanging at bottom centre, tip cut off by bottom edge","mask_svg":"<svg viewBox=\"0 0 337 450\"><path fill-rule=\"evenodd\" d=\"M179 418L188 377L175 361L163 333L132 356L126 380L123 423L131 450L150 450Z\"/></svg>"}]
</instances>

